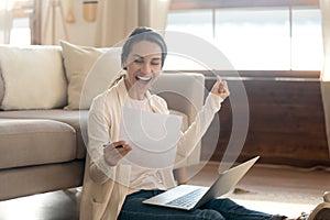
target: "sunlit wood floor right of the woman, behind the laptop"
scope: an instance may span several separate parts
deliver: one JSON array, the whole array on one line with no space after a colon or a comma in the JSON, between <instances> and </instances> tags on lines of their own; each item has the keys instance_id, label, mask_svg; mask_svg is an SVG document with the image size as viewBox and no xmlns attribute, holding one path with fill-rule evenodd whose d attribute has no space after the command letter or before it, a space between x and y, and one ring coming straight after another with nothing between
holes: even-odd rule
<instances>
[{"instance_id":1,"label":"sunlit wood floor right of the woman, behind the laptop","mask_svg":"<svg viewBox=\"0 0 330 220\"><path fill-rule=\"evenodd\" d=\"M209 186L217 178L219 164L209 163L189 183ZM246 208L298 217L323 202L330 190L330 167L310 169L289 166L254 165L228 195Z\"/></svg>"}]
</instances>

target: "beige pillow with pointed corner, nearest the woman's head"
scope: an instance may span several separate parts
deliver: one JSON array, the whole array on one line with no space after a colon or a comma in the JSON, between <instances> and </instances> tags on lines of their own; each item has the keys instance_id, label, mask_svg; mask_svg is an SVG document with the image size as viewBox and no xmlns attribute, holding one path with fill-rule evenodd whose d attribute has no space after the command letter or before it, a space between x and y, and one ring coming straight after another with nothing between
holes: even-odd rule
<instances>
[{"instance_id":1,"label":"beige pillow with pointed corner, nearest the woman's head","mask_svg":"<svg viewBox=\"0 0 330 220\"><path fill-rule=\"evenodd\" d=\"M95 48L61 41L68 80L68 110L89 109L121 69L120 47ZM84 94L84 96L81 96Z\"/></svg>"}]
</instances>

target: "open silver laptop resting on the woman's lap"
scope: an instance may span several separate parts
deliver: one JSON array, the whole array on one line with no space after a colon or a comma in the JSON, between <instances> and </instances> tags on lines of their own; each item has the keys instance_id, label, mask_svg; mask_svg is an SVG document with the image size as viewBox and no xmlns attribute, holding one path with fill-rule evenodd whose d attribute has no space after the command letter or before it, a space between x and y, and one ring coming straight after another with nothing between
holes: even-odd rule
<instances>
[{"instance_id":1,"label":"open silver laptop resting on the woman's lap","mask_svg":"<svg viewBox=\"0 0 330 220\"><path fill-rule=\"evenodd\" d=\"M196 209L212 198L228 194L254 165L260 156L232 167L219 175L210 187L179 185L163 194L143 201L143 204L183 210Z\"/></svg>"}]
</instances>

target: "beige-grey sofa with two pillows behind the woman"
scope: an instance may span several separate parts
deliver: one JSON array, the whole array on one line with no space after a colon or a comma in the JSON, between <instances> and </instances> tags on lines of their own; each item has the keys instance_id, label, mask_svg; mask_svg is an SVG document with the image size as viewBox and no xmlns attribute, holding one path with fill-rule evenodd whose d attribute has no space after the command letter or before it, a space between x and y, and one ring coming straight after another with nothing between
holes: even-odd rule
<instances>
[{"instance_id":1,"label":"beige-grey sofa with two pillows behind the woman","mask_svg":"<svg viewBox=\"0 0 330 220\"><path fill-rule=\"evenodd\" d=\"M81 186L88 105L110 80L99 73L106 69L106 75L110 75L109 68L113 68L113 64L109 68L97 65L102 64L100 57L106 57L108 65L119 62L105 48L68 43L32 47L0 45L0 200ZM75 63L76 67L70 66ZM116 65L120 67L119 63ZM89 77L86 72L92 70L101 81L94 81L89 88L84 82L84 88L75 91L77 86L73 81L77 77L69 74L80 74L86 80ZM45 77L48 72L54 73ZM163 74L153 92L167 100L173 113L183 116L185 129L202 105L204 84L201 74ZM94 87L97 90L91 91ZM78 107L73 107L74 92L80 96L75 100ZM82 108L84 92L91 95ZM180 167L198 163L199 151L197 147Z\"/></svg>"}]
</instances>

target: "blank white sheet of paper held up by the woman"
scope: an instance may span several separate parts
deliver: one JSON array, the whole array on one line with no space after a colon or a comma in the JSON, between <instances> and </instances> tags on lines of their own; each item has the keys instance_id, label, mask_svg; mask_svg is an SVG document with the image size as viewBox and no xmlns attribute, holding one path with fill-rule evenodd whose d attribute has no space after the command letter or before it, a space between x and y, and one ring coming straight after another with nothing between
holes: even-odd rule
<instances>
[{"instance_id":1,"label":"blank white sheet of paper held up by the woman","mask_svg":"<svg viewBox=\"0 0 330 220\"><path fill-rule=\"evenodd\" d=\"M119 163L147 168L173 166L180 128L179 116L123 107L119 138L127 141L132 151Z\"/></svg>"}]
</instances>

